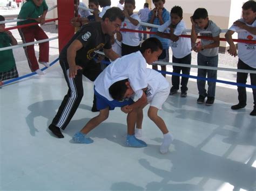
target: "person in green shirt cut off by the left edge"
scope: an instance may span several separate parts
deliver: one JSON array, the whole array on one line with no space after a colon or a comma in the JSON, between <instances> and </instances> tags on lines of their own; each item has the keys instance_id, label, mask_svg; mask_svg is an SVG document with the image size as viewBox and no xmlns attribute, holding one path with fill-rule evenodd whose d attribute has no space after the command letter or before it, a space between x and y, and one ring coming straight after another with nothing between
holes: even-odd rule
<instances>
[{"instance_id":1,"label":"person in green shirt cut off by the left edge","mask_svg":"<svg viewBox=\"0 0 256 191\"><path fill-rule=\"evenodd\" d=\"M0 22L4 21L0 15ZM0 48L17 45L17 40L10 31L5 31L5 24L0 24ZM12 49L0 51L0 86L1 81L18 77L16 63Z\"/></svg>"}]
</instances>

